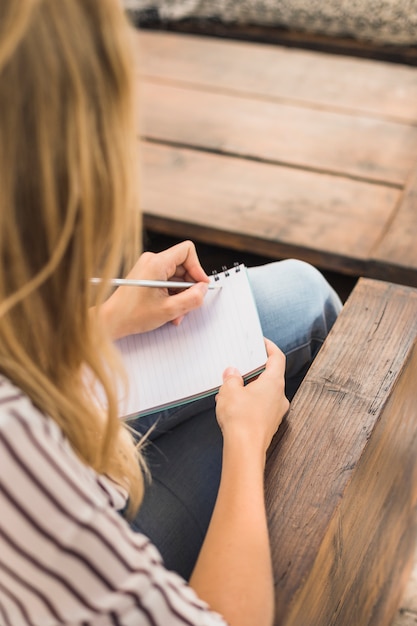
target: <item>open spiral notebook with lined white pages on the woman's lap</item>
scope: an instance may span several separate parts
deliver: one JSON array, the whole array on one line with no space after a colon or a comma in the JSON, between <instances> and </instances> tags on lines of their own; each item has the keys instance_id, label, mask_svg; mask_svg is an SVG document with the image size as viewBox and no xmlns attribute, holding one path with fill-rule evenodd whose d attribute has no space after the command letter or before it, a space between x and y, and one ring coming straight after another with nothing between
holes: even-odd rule
<instances>
[{"instance_id":1,"label":"open spiral notebook with lined white pages on the woman's lap","mask_svg":"<svg viewBox=\"0 0 417 626\"><path fill-rule=\"evenodd\" d=\"M117 342L129 381L121 415L146 415L214 394L228 366L245 380L264 368L265 344L246 267L223 268L210 280L221 289L209 290L179 326L165 324Z\"/></svg>"}]
</instances>

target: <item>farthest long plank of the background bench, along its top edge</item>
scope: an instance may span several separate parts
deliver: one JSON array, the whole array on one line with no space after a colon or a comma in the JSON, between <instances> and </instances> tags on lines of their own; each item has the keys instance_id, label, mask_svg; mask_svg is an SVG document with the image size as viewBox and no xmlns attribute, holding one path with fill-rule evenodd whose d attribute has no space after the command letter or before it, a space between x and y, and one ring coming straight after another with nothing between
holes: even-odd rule
<instances>
[{"instance_id":1,"label":"farthest long plank of the background bench, along its top edge","mask_svg":"<svg viewBox=\"0 0 417 626\"><path fill-rule=\"evenodd\" d=\"M138 45L144 75L417 121L414 67L166 32L140 31Z\"/></svg>"}]
</instances>

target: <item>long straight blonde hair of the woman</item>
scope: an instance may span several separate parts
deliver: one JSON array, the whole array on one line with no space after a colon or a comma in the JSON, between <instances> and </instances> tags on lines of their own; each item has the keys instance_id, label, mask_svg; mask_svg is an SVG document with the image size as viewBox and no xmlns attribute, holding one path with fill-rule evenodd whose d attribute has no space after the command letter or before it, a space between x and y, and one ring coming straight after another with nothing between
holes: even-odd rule
<instances>
[{"instance_id":1,"label":"long straight blonde hair of the woman","mask_svg":"<svg viewBox=\"0 0 417 626\"><path fill-rule=\"evenodd\" d=\"M89 281L120 268L136 208L130 39L118 0L0 2L0 371L133 511L143 479Z\"/></svg>"}]
</instances>

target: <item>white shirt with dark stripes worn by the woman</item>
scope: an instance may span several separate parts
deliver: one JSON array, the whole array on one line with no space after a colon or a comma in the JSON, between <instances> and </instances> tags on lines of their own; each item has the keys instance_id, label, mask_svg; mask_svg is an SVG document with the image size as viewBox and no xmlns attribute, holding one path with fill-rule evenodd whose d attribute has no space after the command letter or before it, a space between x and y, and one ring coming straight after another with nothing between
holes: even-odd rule
<instances>
[{"instance_id":1,"label":"white shirt with dark stripes worn by the woman","mask_svg":"<svg viewBox=\"0 0 417 626\"><path fill-rule=\"evenodd\" d=\"M130 529L124 504L0 377L0 625L224 626Z\"/></svg>"}]
</instances>

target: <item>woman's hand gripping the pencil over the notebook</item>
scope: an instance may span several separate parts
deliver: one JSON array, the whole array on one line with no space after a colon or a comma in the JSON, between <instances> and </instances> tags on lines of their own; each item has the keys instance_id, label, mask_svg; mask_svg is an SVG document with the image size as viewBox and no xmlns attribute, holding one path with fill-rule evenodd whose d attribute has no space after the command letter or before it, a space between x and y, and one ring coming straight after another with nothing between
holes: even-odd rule
<instances>
[{"instance_id":1,"label":"woman's hand gripping the pencil over the notebook","mask_svg":"<svg viewBox=\"0 0 417 626\"><path fill-rule=\"evenodd\" d=\"M196 284L175 293L156 287L119 287L100 307L100 318L113 339L153 330L166 322L180 324L189 311L202 305L209 282L191 241L163 252L143 253L127 278Z\"/></svg>"}]
</instances>

